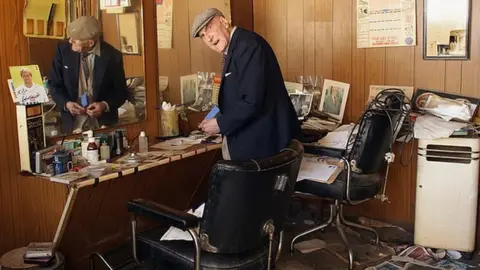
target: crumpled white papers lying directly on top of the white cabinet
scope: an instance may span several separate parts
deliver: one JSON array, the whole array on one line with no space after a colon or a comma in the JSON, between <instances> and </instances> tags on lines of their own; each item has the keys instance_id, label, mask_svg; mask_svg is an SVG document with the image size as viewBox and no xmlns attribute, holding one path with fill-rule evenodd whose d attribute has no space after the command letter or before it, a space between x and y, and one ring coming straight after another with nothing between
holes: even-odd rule
<instances>
[{"instance_id":1,"label":"crumpled white papers lying directly on top of the white cabinet","mask_svg":"<svg viewBox=\"0 0 480 270\"><path fill-rule=\"evenodd\" d=\"M414 135L416 139L448 138L455 130L466 126L467 123L445 121L436 116L422 115L415 121Z\"/></svg>"}]
</instances>

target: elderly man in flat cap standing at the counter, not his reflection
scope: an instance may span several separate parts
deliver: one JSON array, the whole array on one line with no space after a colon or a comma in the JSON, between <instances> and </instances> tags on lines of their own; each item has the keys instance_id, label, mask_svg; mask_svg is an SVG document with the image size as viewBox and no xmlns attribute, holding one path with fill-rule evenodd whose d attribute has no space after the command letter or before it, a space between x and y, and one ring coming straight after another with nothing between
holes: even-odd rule
<instances>
[{"instance_id":1,"label":"elderly man in flat cap standing at the counter, not his reflection","mask_svg":"<svg viewBox=\"0 0 480 270\"><path fill-rule=\"evenodd\" d=\"M300 125L270 45L260 35L232 26L215 8L196 16L192 34L224 58L220 114L200 128L223 135L224 159L279 153L298 135Z\"/></svg>"}]
</instances>

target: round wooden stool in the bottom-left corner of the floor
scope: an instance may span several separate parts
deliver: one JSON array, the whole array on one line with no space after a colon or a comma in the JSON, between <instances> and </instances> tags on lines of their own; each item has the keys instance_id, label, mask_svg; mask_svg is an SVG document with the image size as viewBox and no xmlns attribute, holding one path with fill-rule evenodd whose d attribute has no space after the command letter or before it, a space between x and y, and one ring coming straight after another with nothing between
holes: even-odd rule
<instances>
[{"instance_id":1,"label":"round wooden stool in the bottom-left corner of the floor","mask_svg":"<svg viewBox=\"0 0 480 270\"><path fill-rule=\"evenodd\" d=\"M55 262L47 267L39 267L35 264L23 263L23 255L27 247L21 247L11 250L0 258L0 268L2 270L14 270L14 269L32 269L32 270L63 270L65 262L63 255L60 252L55 252Z\"/></svg>"}]
</instances>

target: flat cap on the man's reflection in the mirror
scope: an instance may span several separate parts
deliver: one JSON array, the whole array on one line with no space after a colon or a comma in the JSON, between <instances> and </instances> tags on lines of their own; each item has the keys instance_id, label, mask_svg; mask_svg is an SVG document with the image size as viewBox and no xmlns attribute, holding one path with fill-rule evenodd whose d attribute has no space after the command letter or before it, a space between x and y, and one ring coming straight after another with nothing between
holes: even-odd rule
<instances>
[{"instance_id":1,"label":"flat cap on the man's reflection in the mirror","mask_svg":"<svg viewBox=\"0 0 480 270\"><path fill-rule=\"evenodd\" d=\"M100 22L93 16L82 16L74 20L67 27L69 38L88 40L93 39L102 33Z\"/></svg>"}]
</instances>

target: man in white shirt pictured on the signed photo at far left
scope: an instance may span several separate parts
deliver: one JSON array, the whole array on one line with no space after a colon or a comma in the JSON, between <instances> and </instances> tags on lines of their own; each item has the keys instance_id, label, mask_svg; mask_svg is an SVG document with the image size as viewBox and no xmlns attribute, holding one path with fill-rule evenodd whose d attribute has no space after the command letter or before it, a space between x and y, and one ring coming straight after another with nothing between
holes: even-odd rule
<instances>
[{"instance_id":1,"label":"man in white shirt pictured on the signed photo at far left","mask_svg":"<svg viewBox=\"0 0 480 270\"><path fill-rule=\"evenodd\" d=\"M23 83L15 88L16 102L20 104L32 104L48 102L47 92L43 85L33 81L32 71L27 67L20 69Z\"/></svg>"}]
</instances>

